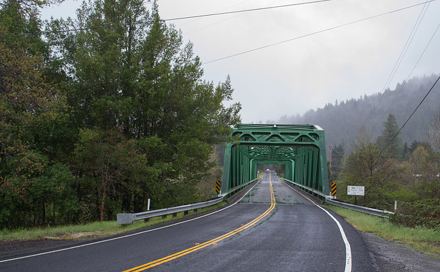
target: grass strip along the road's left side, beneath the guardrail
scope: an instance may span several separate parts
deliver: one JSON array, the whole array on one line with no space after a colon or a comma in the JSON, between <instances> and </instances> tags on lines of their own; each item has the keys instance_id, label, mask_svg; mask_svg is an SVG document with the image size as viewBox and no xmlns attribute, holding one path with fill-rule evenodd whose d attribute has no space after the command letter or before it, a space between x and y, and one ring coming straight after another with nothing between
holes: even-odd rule
<instances>
[{"instance_id":1,"label":"grass strip along the road's left side, beneath the guardrail","mask_svg":"<svg viewBox=\"0 0 440 272\"><path fill-rule=\"evenodd\" d=\"M211 207L205 207L197 210L197 213L208 212L213 209L217 209L226 205L223 201L217 205ZM190 214L197 214L192 210L188 212ZM38 240L38 239L54 239L54 240L87 240L91 238L101 238L105 236L112 236L115 234L122 234L127 231L133 231L135 229L141 229L142 227L148 227L157 223L166 222L176 218L184 217L184 212L179 212L177 217L173 217L170 214L166 218L162 216L150 218L148 222L144 220L137 220L130 225L118 225L116 221L104 221L93 222L83 225L65 225L57 227L34 227L26 229L8 230L3 229L0 232L0 241L23 241L23 240Z\"/></svg>"}]
</instances>

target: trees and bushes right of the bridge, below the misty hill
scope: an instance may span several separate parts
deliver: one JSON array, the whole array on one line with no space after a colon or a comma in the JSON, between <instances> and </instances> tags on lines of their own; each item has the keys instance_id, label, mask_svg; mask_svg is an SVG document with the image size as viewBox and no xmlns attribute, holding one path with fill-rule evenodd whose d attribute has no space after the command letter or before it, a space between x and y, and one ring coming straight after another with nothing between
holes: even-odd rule
<instances>
[{"instance_id":1,"label":"trees and bushes right of the bridge, below the misty hill","mask_svg":"<svg viewBox=\"0 0 440 272\"><path fill-rule=\"evenodd\" d=\"M432 117L426 141L402 144L398 131L390 114L376 141L362 128L349 154L343 143L334 146L330 183L336 182L338 199L347 203L394 211L397 201L389 224L398 232L405 230L402 236L409 235L409 229L440 235L440 112ZM365 196L347 195L348 185L364 186Z\"/></svg>"}]
</instances>

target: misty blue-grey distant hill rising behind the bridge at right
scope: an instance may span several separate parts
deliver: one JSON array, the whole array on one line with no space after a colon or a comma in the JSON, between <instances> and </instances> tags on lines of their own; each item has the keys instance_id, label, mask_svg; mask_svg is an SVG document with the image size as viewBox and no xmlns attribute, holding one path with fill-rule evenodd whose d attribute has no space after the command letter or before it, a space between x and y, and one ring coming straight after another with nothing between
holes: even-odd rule
<instances>
[{"instance_id":1,"label":"misty blue-grey distant hill rising behind the bridge at right","mask_svg":"<svg viewBox=\"0 0 440 272\"><path fill-rule=\"evenodd\" d=\"M355 142L362 124L365 124L371 133L372 141L376 141L377 136L382 133L383 123L389 113L395 115L399 127L401 127L437 78L438 75L434 74L421 78L415 77L408 82L397 84L395 90L387 89L382 98L380 98L380 93L364 95L358 99L353 98L345 102L326 104L324 108L318 108L316 111L309 110L304 115L284 115L276 123L316 124L325 130L327 146L330 144L334 146L344 141L346 148L349 149L351 144ZM377 103L378 101L380 102ZM377 108L370 115L375 104L377 104ZM423 141L434 113L439 110L440 86L437 84L401 131L399 136L402 143L408 142L409 145L414 140Z\"/></svg>"}]
</instances>

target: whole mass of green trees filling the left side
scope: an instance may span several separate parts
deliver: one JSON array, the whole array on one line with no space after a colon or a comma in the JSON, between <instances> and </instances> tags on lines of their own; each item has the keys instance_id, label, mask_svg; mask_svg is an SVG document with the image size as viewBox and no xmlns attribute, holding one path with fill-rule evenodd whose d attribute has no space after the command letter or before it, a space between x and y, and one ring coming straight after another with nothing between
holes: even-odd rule
<instances>
[{"instance_id":1,"label":"whole mass of green trees filling the left side","mask_svg":"<svg viewBox=\"0 0 440 272\"><path fill-rule=\"evenodd\" d=\"M0 228L199 201L240 122L229 78L201 79L155 1L90 0L44 23L52 2L0 0Z\"/></svg>"}]
</instances>

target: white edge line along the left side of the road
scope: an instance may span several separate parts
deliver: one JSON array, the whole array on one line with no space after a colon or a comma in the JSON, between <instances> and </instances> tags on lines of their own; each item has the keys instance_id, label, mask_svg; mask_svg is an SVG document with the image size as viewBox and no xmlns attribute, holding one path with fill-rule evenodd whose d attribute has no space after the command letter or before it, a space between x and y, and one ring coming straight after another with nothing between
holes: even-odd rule
<instances>
[{"instance_id":1,"label":"white edge line along the left side of the road","mask_svg":"<svg viewBox=\"0 0 440 272\"><path fill-rule=\"evenodd\" d=\"M252 188L254 188L255 185L256 185L257 183L258 183L258 182L256 182L256 183L252 186ZM252 188L251 188L251 190L252 190ZM246 193L246 194L247 194L247 193ZM246 194L244 194L243 196L241 196L241 199L243 199L243 197L245 197ZM102 243L102 242L109 242L109 241L118 240L118 239L122 239L122 238L127 238L127 237L131 237L131 236L136 236L136 235L139 235L139 234L145 234L145 233L147 233L147 232L155 231L155 230L158 230L158 229L165 229L166 227L173 227L173 226L175 226L175 225L180 225L180 224L183 224L183 223L187 223L187 222L190 222L190 221L192 221L192 220L196 220L196 219L199 219L199 218L203 218L203 217L206 217L206 216L210 216L210 215L212 215L212 214L217 214L217 212L221 212L221 211L223 211L223 210L225 210L225 209L228 209L229 207L232 207L232 206L235 205L236 203L239 203L239 202L241 201L241 199L239 199L239 200L236 201L235 203L229 205L228 207L224 207L223 209L219 209L218 211L211 212L210 214L205 214L205 215L203 215L203 216L199 216L199 217L192 218L192 219L189 219L189 220L184 220L184 221L181 221L181 222L179 222L179 223L174 223L174 224L172 224L172 225L167 225L167 226L164 226L164 227L157 227L157 228L155 228L155 229L148 229L148 230L146 230L146 231L136 232L135 234L128 234L128 235L124 235L124 236L119 236L119 237L115 237L115 238L110 238L110 239L107 239L107 240L100 240L100 241L97 241L97 242L90 242L89 244L77 245L77 246L74 246L74 247L66 247L65 249L56 249L56 250L46 251L46 252L41 252L41 253L36 253L36 254L28 255L28 256L21 256L21 257L12 258L12 259L7 259L7 260L0 260L0 263L2 263L2 262L10 262L10 261L13 261L13 260L21 260L21 259L31 258L31 257L36 257L36 256L42 256L42 255L46 255L46 254L50 254L50 253L56 253L56 252L60 252L60 251L67 251L67 250L70 250L70 249L78 249L78 248L80 248L80 247L87 247L87 246L91 246L91 245L98 245L98 244L100 244L100 243Z\"/></svg>"}]
</instances>

